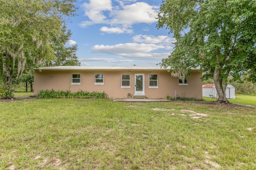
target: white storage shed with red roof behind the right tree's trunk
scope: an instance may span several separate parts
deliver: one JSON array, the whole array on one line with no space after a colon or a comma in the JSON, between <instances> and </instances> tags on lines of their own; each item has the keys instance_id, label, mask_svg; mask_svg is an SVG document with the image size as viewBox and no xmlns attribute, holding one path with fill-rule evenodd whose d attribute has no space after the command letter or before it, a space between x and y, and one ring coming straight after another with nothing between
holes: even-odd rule
<instances>
[{"instance_id":1,"label":"white storage shed with red roof behind the right tree's trunk","mask_svg":"<svg viewBox=\"0 0 256 170\"><path fill-rule=\"evenodd\" d=\"M215 85L203 85L203 97L218 97ZM227 85L226 98L235 99L235 88L232 85Z\"/></svg>"}]
</instances>

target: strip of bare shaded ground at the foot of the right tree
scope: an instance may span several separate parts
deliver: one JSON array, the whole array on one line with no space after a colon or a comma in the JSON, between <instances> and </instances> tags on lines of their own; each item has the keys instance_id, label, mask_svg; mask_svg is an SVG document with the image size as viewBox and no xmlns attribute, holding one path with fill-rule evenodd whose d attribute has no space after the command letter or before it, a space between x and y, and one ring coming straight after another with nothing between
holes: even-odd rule
<instances>
[{"instance_id":1,"label":"strip of bare shaded ground at the foot of the right tree","mask_svg":"<svg viewBox=\"0 0 256 170\"><path fill-rule=\"evenodd\" d=\"M247 107L247 108L251 108L251 109L256 109L255 106L251 106L251 105L240 105L240 104L234 104L234 103L229 103L229 104L225 104L225 103L220 103L218 101L195 101L194 102L197 105L211 105L212 107L223 107L223 108L237 108L237 107Z\"/></svg>"}]
</instances>

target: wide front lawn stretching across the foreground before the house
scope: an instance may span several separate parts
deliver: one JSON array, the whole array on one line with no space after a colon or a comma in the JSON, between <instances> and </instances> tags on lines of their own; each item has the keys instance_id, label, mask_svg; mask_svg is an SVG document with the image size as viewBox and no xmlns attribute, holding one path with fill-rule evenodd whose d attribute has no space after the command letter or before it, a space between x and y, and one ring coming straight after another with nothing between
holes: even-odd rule
<instances>
[{"instance_id":1,"label":"wide front lawn stretching across the foreground before the house","mask_svg":"<svg viewBox=\"0 0 256 170\"><path fill-rule=\"evenodd\" d=\"M255 120L189 101L0 102L0 169L255 169Z\"/></svg>"}]
</instances>

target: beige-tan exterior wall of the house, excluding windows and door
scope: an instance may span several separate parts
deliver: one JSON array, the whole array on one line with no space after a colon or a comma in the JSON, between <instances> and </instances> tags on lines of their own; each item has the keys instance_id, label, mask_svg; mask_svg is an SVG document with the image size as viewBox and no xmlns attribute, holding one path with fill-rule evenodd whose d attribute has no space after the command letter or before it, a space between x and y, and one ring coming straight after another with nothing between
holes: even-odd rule
<instances>
[{"instance_id":1,"label":"beige-tan exterior wall of the house, excluding windows and door","mask_svg":"<svg viewBox=\"0 0 256 170\"><path fill-rule=\"evenodd\" d=\"M76 92L97 91L105 92L109 98L127 98L128 93L134 95L135 73L144 73L145 95L152 99L166 99L166 96L196 97L202 99L202 73L192 71L188 78L188 85L178 85L178 78L172 77L168 71L126 71L126 70L35 70L34 72L34 94L40 90ZM72 74L81 74L80 85L72 85ZM104 85L94 85L94 74L104 74ZM121 74L130 74L130 88L121 88ZM158 74L158 88L149 88L149 74Z\"/></svg>"}]
</instances>

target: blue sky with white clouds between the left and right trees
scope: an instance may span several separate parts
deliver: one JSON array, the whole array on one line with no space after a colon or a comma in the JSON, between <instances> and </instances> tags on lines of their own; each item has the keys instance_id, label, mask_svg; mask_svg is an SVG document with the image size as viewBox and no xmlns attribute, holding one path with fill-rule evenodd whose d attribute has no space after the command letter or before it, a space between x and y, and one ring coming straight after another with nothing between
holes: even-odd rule
<instances>
[{"instance_id":1,"label":"blue sky with white clouds between the left and right trees","mask_svg":"<svg viewBox=\"0 0 256 170\"><path fill-rule=\"evenodd\" d=\"M162 0L77 0L67 24L81 65L155 66L173 50L169 30L157 29Z\"/></svg>"}]
</instances>

